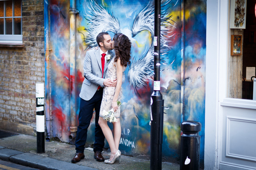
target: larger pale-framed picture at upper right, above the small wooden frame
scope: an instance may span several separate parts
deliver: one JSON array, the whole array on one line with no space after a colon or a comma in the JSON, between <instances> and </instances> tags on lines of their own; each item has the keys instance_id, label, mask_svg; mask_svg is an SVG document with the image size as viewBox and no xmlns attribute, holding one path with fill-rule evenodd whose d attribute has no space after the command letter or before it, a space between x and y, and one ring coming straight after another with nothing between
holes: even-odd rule
<instances>
[{"instance_id":1,"label":"larger pale-framed picture at upper right, above the small wooden frame","mask_svg":"<svg viewBox=\"0 0 256 170\"><path fill-rule=\"evenodd\" d=\"M245 29L246 0L230 1L230 28Z\"/></svg>"}]
</instances>

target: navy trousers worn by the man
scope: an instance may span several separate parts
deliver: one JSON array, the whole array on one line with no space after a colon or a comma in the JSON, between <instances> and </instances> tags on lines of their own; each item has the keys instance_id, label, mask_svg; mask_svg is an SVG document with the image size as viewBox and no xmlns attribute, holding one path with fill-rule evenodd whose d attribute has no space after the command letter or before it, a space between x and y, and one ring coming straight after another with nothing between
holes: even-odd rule
<instances>
[{"instance_id":1,"label":"navy trousers worn by the man","mask_svg":"<svg viewBox=\"0 0 256 170\"><path fill-rule=\"evenodd\" d=\"M79 125L76 133L76 152L84 153L85 142L87 140L87 129L91 123L93 116L93 108L95 108L95 142L93 144L93 151L102 152L104 147L105 136L98 123L100 115L100 104L102 100L103 88L97 90L91 100L83 100L80 98L80 111L78 115Z\"/></svg>"}]
</instances>

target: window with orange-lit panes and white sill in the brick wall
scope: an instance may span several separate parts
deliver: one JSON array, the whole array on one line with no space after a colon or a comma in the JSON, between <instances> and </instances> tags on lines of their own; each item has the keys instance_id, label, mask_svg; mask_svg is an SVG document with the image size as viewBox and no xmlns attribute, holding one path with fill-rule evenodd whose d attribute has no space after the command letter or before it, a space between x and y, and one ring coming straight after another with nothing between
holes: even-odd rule
<instances>
[{"instance_id":1,"label":"window with orange-lit panes and white sill in the brick wall","mask_svg":"<svg viewBox=\"0 0 256 170\"><path fill-rule=\"evenodd\" d=\"M22 43L21 0L0 0L0 43Z\"/></svg>"}]
</instances>

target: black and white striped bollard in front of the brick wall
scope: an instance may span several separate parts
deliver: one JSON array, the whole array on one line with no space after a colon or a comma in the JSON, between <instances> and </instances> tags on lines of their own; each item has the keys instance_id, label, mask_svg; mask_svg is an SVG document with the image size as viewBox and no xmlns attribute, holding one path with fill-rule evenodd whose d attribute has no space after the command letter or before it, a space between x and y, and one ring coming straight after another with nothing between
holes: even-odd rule
<instances>
[{"instance_id":1,"label":"black and white striped bollard in front of the brick wall","mask_svg":"<svg viewBox=\"0 0 256 170\"><path fill-rule=\"evenodd\" d=\"M44 84L36 83L37 102L37 153L45 153L44 150Z\"/></svg>"}]
</instances>

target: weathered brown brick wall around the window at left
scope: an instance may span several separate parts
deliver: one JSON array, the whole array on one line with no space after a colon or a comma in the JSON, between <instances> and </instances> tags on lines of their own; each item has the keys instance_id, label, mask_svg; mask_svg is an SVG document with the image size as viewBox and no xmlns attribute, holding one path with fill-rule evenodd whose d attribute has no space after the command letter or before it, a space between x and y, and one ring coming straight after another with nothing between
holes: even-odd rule
<instances>
[{"instance_id":1,"label":"weathered brown brick wall around the window at left","mask_svg":"<svg viewBox=\"0 0 256 170\"><path fill-rule=\"evenodd\" d=\"M0 47L0 129L36 134L35 84L44 83L43 0L22 0L24 47Z\"/></svg>"}]
</instances>

